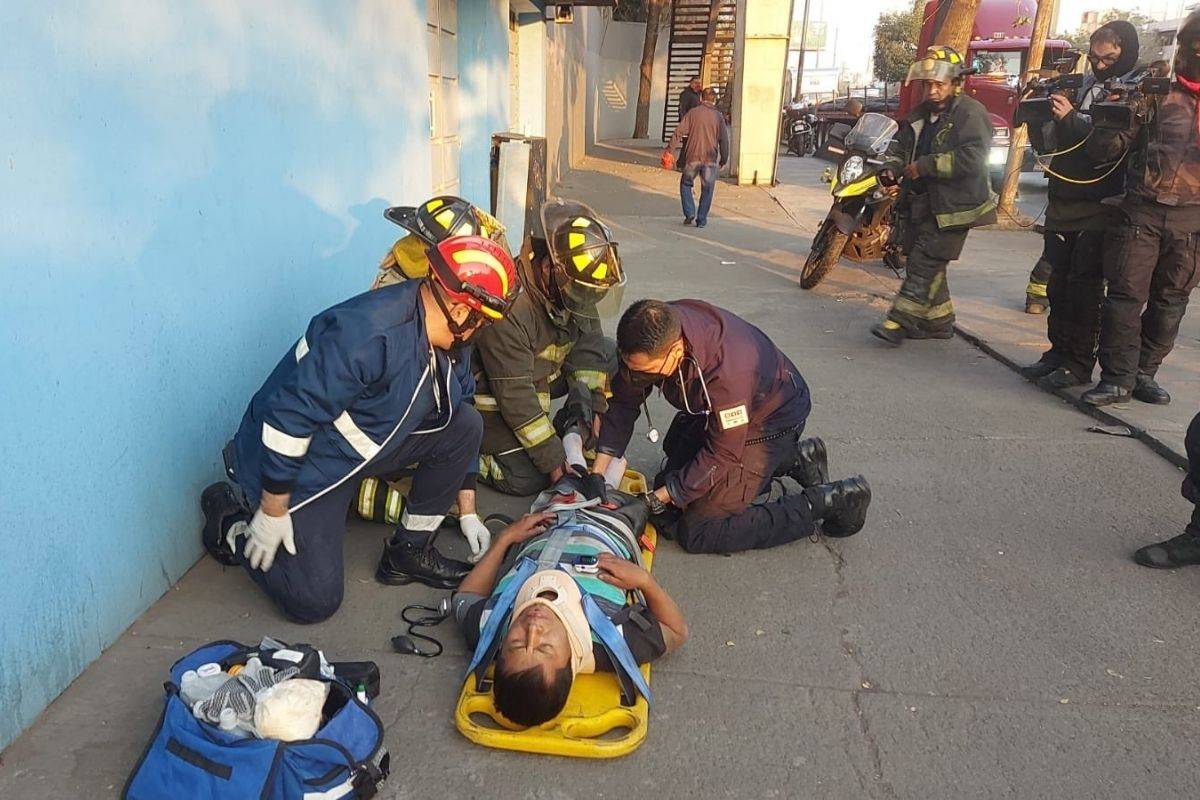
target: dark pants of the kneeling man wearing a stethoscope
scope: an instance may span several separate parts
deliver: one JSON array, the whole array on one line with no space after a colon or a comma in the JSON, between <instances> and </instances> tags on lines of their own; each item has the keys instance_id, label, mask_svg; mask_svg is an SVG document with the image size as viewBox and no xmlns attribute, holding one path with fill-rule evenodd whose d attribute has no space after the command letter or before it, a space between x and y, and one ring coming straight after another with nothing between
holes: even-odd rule
<instances>
[{"instance_id":1,"label":"dark pants of the kneeling man wearing a stethoscope","mask_svg":"<svg viewBox=\"0 0 1200 800\"><path fill-rule=\"evenodd\" d=\"M662 440L666 463L655 486L662 486L668 473L682 469L703 447L707 420L707 416L682 411L676 415ZM788 432L768 441L748 444L740 463L731 464L712 492L684 509L673 525L679 546L689 553L734 553L811 536L816 530L812 506L802 492L778 500L754 501L770 489L773 477L785 474L796 463L796 443L800 433Z\"/></svg>"}]
</instances>

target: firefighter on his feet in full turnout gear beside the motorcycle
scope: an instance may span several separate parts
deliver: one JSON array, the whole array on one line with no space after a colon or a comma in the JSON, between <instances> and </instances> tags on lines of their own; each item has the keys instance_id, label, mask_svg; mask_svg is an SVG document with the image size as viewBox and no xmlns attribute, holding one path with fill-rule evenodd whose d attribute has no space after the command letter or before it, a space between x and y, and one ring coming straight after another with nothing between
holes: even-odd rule
<instances>
[{"instance_id":1,"label":"firefighter on his feet in full turnout gear beside the motorcycle","mask_svg":"<svg viewBox=\"0 0 1200 800\"><path fill-rule=\"evenodd\" d=\"M920 82L924 100L888 145L884 182L905 178L907 273L883 321L871 333L900 344L905 338L950 338L954 305L946 267L962 252L967 231L996 219L988 180L991 124L978 101L961 92L962 56L930 46L908 68L905 83Z\"/></svg>"}]
</instances>

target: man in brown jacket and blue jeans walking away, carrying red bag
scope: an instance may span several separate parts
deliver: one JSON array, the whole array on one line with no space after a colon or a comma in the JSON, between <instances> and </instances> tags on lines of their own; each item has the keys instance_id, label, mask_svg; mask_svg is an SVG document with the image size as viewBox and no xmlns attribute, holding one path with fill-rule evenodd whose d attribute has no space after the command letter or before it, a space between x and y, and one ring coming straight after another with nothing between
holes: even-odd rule
<instances>
[{"instance_id":1,"label":"man in brown jacket and blue jeans walking away, carrying red bag","mask_svg":"<svg viewBox=\"0 0 1200 800\"><path fill-rule=\"evenodd\" d=\"M679 200L683 204L683 223L708 224L708 210L713 205L716 190L716 173L730 160L730 126L725 115L716 110L716 90L704 90L703 102L688 112L671 134L664 155L670 154L686 137L683 151L683 175L679 178ZM700 178L700 207L696 207L694 190Z\"/></svg>"}]
</instances>

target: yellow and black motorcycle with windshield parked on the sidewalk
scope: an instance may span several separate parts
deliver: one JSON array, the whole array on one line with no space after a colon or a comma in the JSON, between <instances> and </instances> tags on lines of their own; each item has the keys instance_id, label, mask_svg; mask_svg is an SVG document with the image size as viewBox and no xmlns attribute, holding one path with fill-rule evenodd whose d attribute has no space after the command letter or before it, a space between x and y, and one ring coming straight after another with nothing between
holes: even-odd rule
<instances>
[{"instance_id":1,"label":"yellow and black motorcycle with windshield parked on the sidewalk","mask_svg":"<svg viewBox=\"0 0 1200 800\"><path fill-rule=\"evenodd\" d=\"M883 259L893 270L890 245L895 190L880 184L882 156L900 126L884 114L863 114L854 127L835 125L828 150L839 156L836 172L826 169L833 206L822 221L800 271L800 288L821 283L845 255L854 261Z\"/></svg>"}]
</instances>

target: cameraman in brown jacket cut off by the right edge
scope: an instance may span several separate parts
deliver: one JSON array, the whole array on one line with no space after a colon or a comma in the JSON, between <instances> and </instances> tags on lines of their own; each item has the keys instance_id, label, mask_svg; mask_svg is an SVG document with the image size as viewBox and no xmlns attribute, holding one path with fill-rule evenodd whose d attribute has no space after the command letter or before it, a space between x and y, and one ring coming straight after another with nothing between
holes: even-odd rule
<instances>
[{"instance_id":1,"label":"cameraman in brown jacket cut off by the right edge","mask_svg":"<svg viewBox=\"0 0 1200 800\"><path fill-rule=\"evenodd\" d=\"M1087 140L1097 161L1130 154L1122 217L1104 237L1109 291L1100 323L1100 381L1082 396L1092 405L1124 402L1130 390L1144 403L1171 402L1154 373L1175 344L1188 295L1200 279L1200 12L1183 22L1176 43L1175 80L1168 95L1150 101L1147 121L1135 116L1124 130L1097 127Z\"/></svg>"}]
</instances>

